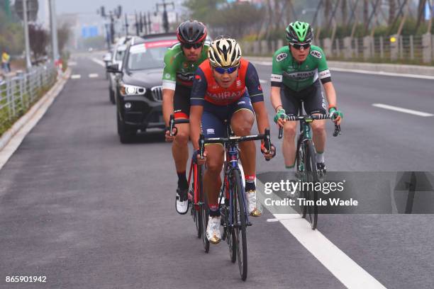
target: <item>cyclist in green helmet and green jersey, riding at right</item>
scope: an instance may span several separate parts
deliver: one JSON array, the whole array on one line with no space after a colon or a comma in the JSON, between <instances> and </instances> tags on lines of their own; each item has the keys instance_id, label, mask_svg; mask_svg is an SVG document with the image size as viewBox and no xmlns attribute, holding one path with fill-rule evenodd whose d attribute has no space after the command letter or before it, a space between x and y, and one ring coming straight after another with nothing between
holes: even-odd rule
<instances>
[{"instance_id":1,"label":"cyclist in green helmet and green jersey, riding at right","mask_svg":"<svg viewBox=\"0 0 434 289\"><path fill-rule=\"evenodd\" d=\"M274 52L271 101L276 115L274 122L284 128L282 151L285 166L291 169L295 165L296 122L286 121L286 115L296 115L304 102L308 114L333 113L333 121L340 124L342 113L338 111L336 92L330 78L330 70L325 61L325 54L320 47L311 45L313 30L308 23L296 21L286 28L288 45ZM323 84L328 107L321 91ZM325 120L311 123L313 142L316 147L316 166L325 173Z\"/></svg>"}]
</instances>

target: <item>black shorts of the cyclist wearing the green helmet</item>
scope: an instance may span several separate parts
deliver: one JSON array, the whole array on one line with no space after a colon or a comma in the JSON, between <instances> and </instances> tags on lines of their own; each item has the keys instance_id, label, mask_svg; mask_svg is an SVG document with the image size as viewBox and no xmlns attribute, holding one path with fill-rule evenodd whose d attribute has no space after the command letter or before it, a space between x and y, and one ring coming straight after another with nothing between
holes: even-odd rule
<instances>
[{"instance_id":1,"label":"black shorts of the cyclist wearing the green helmet","mask_svg":"<svg viewBox=\"0 0 434 289\"><path fill-rule=\"evenodd\" d=\"M304 102L304 111L308 114L325 114L327 111L319 80L301 91L293 91L287 86L282 85L280 96L282 98L282 106L287 115L298 115L301 108L301 101Z\"/></svg>"}]
</instances>

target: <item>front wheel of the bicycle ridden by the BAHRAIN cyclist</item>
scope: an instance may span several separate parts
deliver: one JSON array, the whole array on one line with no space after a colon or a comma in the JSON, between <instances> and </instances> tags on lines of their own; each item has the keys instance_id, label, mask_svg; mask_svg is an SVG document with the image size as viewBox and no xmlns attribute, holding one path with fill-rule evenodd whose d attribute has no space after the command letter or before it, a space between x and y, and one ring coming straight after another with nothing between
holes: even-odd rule
<instances>
[{"instance_id":1,"label":"front wheel of the bicycle ridden by the BAHRAIN cyclist","mask_svg":"<svg viewBox=\"0 0 434 289\"><path fill-rule=\"evenodd\" d=\"M247 278L247 215L245 212L244 188L241 181L241 174L238 170L232 172L233 188L233 231L236 240L236 251L238 257L238 268L243 281Z\"/></svg>"}]
</instances>

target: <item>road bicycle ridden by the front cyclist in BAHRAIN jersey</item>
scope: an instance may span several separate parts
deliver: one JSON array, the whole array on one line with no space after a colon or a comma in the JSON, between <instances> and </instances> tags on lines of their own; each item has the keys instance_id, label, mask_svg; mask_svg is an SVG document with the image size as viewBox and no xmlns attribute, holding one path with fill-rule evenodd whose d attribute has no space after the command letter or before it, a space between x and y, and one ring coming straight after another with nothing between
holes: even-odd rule
<instances>
[{"instance_id":1,"label":"road bicycle ridden by the front cyclist in BAHRAIN jersey","mask_svg":"<svg viewBox=\"0 0 434 289\"><path fill-rule=\"evenodd\" d=\"M238 259L238 268L242 280L247 278L247 226L252 225L248 218L247 202L243 179L238 164L239 142L264 140L265 148L269 151L271 140L269 129L262 135L247 135L238 137L233 134L230 124L226 121L226 137L205 138L199 137L199 154L204 156L206 144L222 144L225 148L225 161L223 163L223 185L220 192L219 208L223 225L222 239L229 246L230 261L235 263ZM224 201L222 199L224 198ZM206 219L208 220L208 219ZM205 224L204 224L205 225ZM206 226L204 226L206 228ZM204 234L204 233L203 233ZM204 234L205 235L205 234Z\"/></svg>"}]
</instances>

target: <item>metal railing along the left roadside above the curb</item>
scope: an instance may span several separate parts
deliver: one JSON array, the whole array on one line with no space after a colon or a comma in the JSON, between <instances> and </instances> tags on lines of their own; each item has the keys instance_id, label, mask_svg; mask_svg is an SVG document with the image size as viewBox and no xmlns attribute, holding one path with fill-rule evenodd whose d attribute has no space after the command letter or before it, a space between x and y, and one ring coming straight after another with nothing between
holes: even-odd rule
<instances>
[{"instance_id":1,"label":"metal railing along the left roadside above the curb","mask_svg":"<svg viewBox=\"0 0 434 289\"><path fill-rule=\"evenodd\" d=\"M54 64L46 64L0 80L0 134L50 89L56 77Z\"/></svg>"}]
</instances>

